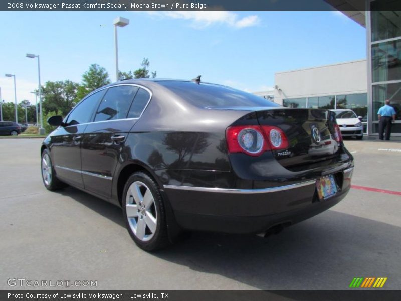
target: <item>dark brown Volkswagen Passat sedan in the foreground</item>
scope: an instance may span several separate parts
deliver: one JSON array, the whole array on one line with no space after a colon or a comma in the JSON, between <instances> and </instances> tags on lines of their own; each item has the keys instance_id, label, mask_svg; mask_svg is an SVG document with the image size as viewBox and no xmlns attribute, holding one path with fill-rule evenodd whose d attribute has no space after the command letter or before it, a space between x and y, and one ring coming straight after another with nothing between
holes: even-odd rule
<instances>
[{"instance_id":1,"label":"dark brown Volkswagen Passat sedan in the foreground","mask_svg":"<svg viewBox=\"0 0 401 301\"><path fill-rule=\"evenodd\" d=\"M148 251L184 230L269 233L309 218L345 197L354 167L335 113L199 81L120 81L48 122L46 188L121 206Z\"/></svg>"}]
</instances>

